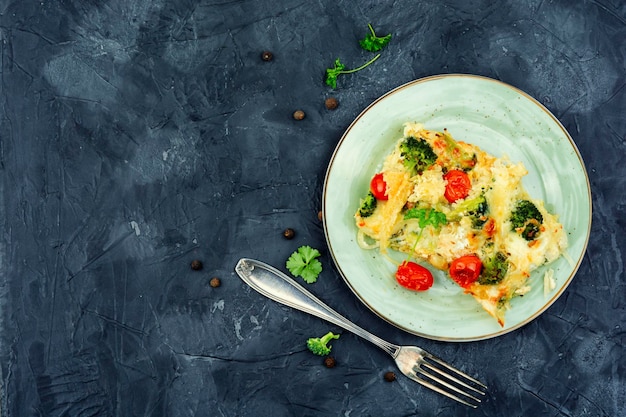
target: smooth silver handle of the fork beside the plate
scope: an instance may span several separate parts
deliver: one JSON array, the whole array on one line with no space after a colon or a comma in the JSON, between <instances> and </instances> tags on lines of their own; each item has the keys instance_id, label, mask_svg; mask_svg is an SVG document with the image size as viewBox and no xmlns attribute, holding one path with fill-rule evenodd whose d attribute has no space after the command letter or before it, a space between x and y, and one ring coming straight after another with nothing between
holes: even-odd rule
<instances>
[{"instance_id":1,"label":"smooth silver handle of the fork beside the plate","mask_svg":"<svg viewBox=\"0 0 626 417\"><path fill-rule=\"evenodd\" d=\"M261 261L242 258L237 262L235 271L246 284L264 296L336 324L375 344L394 358L398 355L400 346L389 343L352 323L278 269Z\"/></svg>"}]
</instances>

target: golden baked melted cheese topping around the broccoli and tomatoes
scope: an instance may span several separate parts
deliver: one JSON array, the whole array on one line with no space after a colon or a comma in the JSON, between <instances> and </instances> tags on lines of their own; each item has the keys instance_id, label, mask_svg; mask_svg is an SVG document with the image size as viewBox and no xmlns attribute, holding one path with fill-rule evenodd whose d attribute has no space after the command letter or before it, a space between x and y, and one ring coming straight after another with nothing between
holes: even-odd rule
<instances>
[{"instance_id":1,"label":"golden baked melted cheese topping around the broccoli and tomatoes","mask_svg":"<svg viewBox=\"0 0 626 417\"><path fill-rule=\"evenodd\" d=\"M409 136L424 139L437 156L433 165L417 175L405 167L400 150ZM469 195L454 203L444 197L447 186L444 173L451 169L462 169L471 182ZM566 234L557 217L546 210L543 202L532 199L522 186L527 170L521 162L496 158L475 145L454 140L447 131L435 132L425 130L420 124L406 124L403 138L385 158L381 172L389 199L378 201L369 217L360 216L358 211L355 214L360 233L378 244L369 247L379 246L382 253L388 248L401 251L442 270L464 255L474 254L484 263L497 252L506 254L508 270L504 279L496 284L476 281L465 288L501 325L510 299L530 290L531 271L554 261L567 247ZM481 195L488 212L482 219L484 223L476 226L472 213L462 208L465 201ZM543 216L540 233L531 241L511 226L511 213L519 200L531 201ZM406 210L412 207L443 213L447 223L420 227L417 219L404 218Z\"/></svg>"}]
</instances>

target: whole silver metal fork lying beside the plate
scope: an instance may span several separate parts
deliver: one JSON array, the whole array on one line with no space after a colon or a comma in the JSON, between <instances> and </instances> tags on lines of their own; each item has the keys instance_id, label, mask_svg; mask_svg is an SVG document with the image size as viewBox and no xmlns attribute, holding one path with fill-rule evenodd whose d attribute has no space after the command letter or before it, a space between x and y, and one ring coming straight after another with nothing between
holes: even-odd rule
<instances>
[{"instance_id":1,"label":"whole silver metal fork lying beside the plate","mask_svg":"<svg viewBox=\"0 0 626 417\"><path fill-rule=\"evenodd\" d=\"M274 301L336 324L375 344L391 355L400 371L425 387L472 408L477 408L487 386L417 346L399 346L360 328L328 307L278 269L248 258L235 271L250 287Z\"/></svg>"}]
</instances>

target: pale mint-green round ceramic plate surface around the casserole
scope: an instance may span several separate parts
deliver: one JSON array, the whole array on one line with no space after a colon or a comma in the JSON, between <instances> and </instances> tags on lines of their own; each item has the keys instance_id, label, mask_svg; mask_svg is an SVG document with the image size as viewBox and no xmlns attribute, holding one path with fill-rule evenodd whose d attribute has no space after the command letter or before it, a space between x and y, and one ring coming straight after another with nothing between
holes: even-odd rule
<instances>
[{"instance_id":1,"label":"pale mint-green round ceramic plate surface around the casserole","mask_svg":"<svg viewBox=\"0 0 626 417\"><path fill-rule=\"evenodd\" d=\"M356 242L353 215L382 160L402 137L407 121L447 128L457 139L496 156L522 161L529 193L559 214L568 232L569 260L549 265L556 288L544 294L546 267L532 274L532 290L517 297L498 323L443 272L425 292L400 287L395 265ZM587 247L591 191L584 163L570 135L540 103L502 82L473 75L442 75L398 87L367 107L341 138L326 172L324 229L331 256L345 282L373 312L407 332L434 340L487 339L517 329L544 312L565 291ZM392 254L403 259L401 254Z\"/></svg>"}]
</instances>

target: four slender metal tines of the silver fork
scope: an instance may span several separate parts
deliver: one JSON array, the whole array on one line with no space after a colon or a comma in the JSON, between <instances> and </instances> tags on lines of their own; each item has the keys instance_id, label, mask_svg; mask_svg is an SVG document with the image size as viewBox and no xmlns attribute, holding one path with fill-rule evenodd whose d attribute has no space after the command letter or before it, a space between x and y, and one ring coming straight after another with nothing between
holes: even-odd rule
<instances>
[{"instance_id":1,"label":"four slender metal tines of the silver fork","mask_svg":"<svg viewBox=\"0 0 626 417\"><path fill-rule=\"evenodd\" d=\"M487 390L485 384L430 353L422 352L422 357L423 360L413 369L416 373L415 381L462 404L472 408L478 407L481 400L476 395L485 395ZM428 379L420 378L418 375Z\"/></svg>"}]
</instances>

